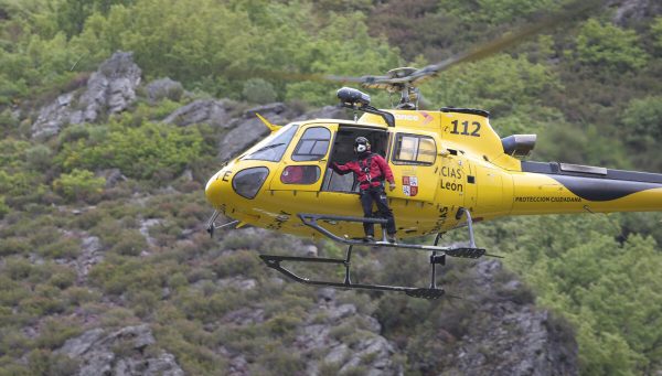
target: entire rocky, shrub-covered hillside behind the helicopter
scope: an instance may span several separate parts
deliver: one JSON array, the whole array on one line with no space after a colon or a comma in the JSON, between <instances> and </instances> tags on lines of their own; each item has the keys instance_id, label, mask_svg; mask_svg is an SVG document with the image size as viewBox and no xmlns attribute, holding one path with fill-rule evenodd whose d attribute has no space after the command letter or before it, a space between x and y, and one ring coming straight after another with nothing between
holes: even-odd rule
<instances>
[{"instance_id":1,"label":"entire rocky, shrub-covered hillside behind the helicopter","mask_svg":"<svg viewBox=\"0 0 662 376\"><path fill-rule=\"evenodd\" d=\"M350 115L287 73L421 66L560 3L0 1L0 375L662 372L659 213L481 224L504 264L452 260L462 299L440 301L285 281L257 255L342 249L204 230L255 112ZM661 57L662 7L611 1L423 92L537 132L534 160L662 172ZM360 278L426 283L426 255L359 256Z\"/></svg>"}]
</instances>

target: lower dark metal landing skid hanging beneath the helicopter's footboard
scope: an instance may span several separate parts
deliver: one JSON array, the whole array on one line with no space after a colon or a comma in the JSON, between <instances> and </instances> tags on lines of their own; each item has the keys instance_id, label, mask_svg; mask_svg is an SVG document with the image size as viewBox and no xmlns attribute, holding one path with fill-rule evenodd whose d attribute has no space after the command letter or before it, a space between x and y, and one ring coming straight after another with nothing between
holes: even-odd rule
<instances>
[{"instance_id":1,"label":"lower dark metal landing skid hanging beneath the helicopter's footboard","mask_svg":"<svg viewBox=\"0 0 662 376\"><path fill-rule=\"evenodd\" d=\"M350 265L352 257L352 247L348 247L348 253L344 259L337 258L317 258L317 257L296 257L296 256L274 256L274 255L259 255L265 264L273 269L276 269L287 276L288 278L305 284L313 286L325 286L339 289L357 289L357 290L373 290L373 291L399 291L404 292L409 297L424 298L424 299L439 299L446 293L444 289L437 288L436 286L430 288L414 288L414 287L402 287L402 286L387 286L387 284L364 284L353 283L350 278ZM442 262L442 259L436 259L435 262ZM343 265L345 268L345 276L343 282L333 281L321 281L309 278L299 277L291 270L286 269L280 262L302 262L302 264L338 264ZM433 260L430 259L430 262Z\"/></svg>"}]
</instances>

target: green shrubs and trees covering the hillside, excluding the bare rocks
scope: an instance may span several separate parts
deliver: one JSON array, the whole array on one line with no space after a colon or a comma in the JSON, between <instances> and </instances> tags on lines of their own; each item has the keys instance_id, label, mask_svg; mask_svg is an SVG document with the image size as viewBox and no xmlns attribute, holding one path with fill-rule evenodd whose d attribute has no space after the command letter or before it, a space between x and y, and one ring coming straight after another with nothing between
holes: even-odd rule
<instances>
[{"instance_id":1,"label":"green shrubs and trees covering the hillside, excluding the bare rocks","mask_svg":"<svg viewBox=\"0 0 662 376\"><path fill-rule=\"evenodd\" d=\"M291 343L288 333L314 293L293 283L270 286L254 253L287 249L292 239L228 237L218 245L206 234L191 235L209 215L201 193L217 168L218 135L204 125L156 121L205 96L325 105L334 85L295 78L421 66L563 2L0 0L0 374L66 374L72 361L53 350L88 325L88 316L106 326L150 322L159 343L192 374L223 373L225 361L209 350L221 344L261 353L256 373L301 370L301 359L281 344ZM600 8L448 71L423 92L435 104L491 110L501 135L537 132L538 160L662 172L662 15L660 7L648 7L644 15L618 20L618 7ZM32 140L35 109L84 86L117 50L135 52L146 80L169 76L190 96L140 101L107 121ZM374 96L388 104L385 95ZM113 168L128 180L106 187L96 173ZM148 228L154 239L148 245L139 228L149 218L159 221ZM573 324L581 374L652 374L662 369L661 221L660 214L526 217L479 232L483 245L508 255L506 265L538 304ZM88 281L78 281L75 259L87 236L98 238L106 258ZM380 277L398 282L389 271L414 267L410 259L396 261ZM255 278L271 299L221 289L210 276ZM388 323L385 335L419 355L431 345L424 339L429 325L451 320L442 304L343 299L378 311ZM205 330L249 303L266 308L263 324ZM26 327L39 327L39 335ZM423 372L414 357L403 363Z\"/></svg>"}]
</instances>

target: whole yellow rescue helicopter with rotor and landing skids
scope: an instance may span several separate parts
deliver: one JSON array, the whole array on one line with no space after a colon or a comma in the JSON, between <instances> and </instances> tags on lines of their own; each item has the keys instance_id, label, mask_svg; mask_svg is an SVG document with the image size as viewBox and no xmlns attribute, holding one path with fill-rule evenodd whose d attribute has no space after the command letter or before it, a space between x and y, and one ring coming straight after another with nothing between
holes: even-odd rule
<instances>
[{"instance_id":1,"label":"whole yellow rescue helicopter with rotor and landing skids","mask_svg":"<svg viewBox=\"0 0 662 376\"><path fill-rule=\"evenodd\" d=\"M563 15L562 15L563 18ZM553 22L542 23L542 26ZM348 245L344 259L260 255L270 268L308 284L345 289L402 291L412 297L444 296L436 284L436 266L446 256L494 256L476 246L473 223L511 215L662 211L662 174L611 170L558 162L524 161L535 135L500 138L489 112L470 108L421 110L416 85L458 63L480 58L512 45L533 32L523 30L483 49L416 69L402 67L383 76L323 79L351 82L365 88L399 93L395 109L370 105L370 96L353 88L338 90L343 107L362 111L354 120L313 119L286 126L271 125L271 133L229 161L207 182L205 194L215 208L207 230L253 225ZM356 112L355 112L356 114ZM258 115L259 116L259 115ZM386 219L362 216L359 184L353 174L340 175L331 163L355 159L357 137L370 140L372 152L384 157L396 190L387 194L397 221L399 240L363 241L363 223L384 225ZM234 219L217 225L218 216ZM468 228L469 245L439 246L441 234ZM433 245L405 240L437 235ZM362 284L351 280L352 248L356 245L429 251L430 284L426 288ZM284 267L287 262L344 266L343 281L312 280Z\"/></svg>"}]
</instances>

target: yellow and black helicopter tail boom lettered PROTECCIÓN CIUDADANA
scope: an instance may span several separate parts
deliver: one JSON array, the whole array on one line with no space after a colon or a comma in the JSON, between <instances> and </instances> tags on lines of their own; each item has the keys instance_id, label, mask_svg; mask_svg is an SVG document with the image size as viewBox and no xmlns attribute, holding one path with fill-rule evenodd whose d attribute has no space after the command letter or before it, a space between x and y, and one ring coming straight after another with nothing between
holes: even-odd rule
<instances>
[{"instance_id":1,"label":"yellow and black helicopter tail boom lettered PROTECCI\u00d3N CIUDADANA","mask_svg":"<svg viewBox=\"0 0 662 376\"><path fill-rule=\"evenodd\" d=\"M662 174L522 162L511 214L662 211Z\"/></svg>"}]
</instances>

